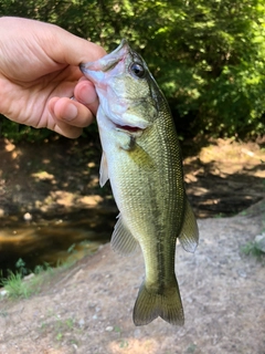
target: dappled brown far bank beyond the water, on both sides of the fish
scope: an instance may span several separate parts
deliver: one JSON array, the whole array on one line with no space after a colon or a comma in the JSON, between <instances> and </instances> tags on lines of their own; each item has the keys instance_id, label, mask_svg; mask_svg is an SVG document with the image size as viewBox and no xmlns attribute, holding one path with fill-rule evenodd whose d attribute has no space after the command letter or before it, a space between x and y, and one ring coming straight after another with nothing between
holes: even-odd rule
<instances>
[{"instance_id":1,"label":"dappled brown far bank beyond the water, on both sides of the fish","mask_svg":"<svg viewBox=\"0 0 265 354\"><path fill-rule=\"evenodd\" d=\"M195 142L182 147L198 152ZM61 138L14 146L0 139L0 217L3 223L114 207L109 185L98 186L98 140ZM265 150L257 144L214 140L183 162L187 192L199 218L235 215L265 195Z\"/></svg>"}]
</instances>

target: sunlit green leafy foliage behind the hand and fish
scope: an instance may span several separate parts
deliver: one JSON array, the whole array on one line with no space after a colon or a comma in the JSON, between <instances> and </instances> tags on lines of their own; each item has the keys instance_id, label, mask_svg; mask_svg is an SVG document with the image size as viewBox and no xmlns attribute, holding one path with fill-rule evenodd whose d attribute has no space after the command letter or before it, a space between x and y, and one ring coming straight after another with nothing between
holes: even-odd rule
<instances>
[{"instance_id":1,"label":"sunlit green leafy foliage behind the hand and fish","mask_svg":"<svg viewBox=\"0 0 265 354\"><path fill-rule=\"evenodd\" d=\"M4 0L0 13L56 23L107 51L127 38L176 115L192 114L194 134L264 134L263 0Z\"/></svg>"}]
</instances>

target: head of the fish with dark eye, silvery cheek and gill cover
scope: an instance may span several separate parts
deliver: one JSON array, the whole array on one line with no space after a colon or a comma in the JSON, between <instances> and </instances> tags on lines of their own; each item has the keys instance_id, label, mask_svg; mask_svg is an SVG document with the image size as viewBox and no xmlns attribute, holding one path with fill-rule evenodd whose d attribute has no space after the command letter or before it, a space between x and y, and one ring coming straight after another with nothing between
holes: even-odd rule
<instances>
[{"instance_id":1,"label":"head of the fish with dark eye, silvery cheek and gill cover","mask_svg":"<svg viewBox=\"0 0 265 354\"><path fill-rule=\"evenodd\" d=\"M114 127L137 134L155 122L159 88L144 59L126 40L112 53L80 67L94 83L100 110Z\"/></svg>"}]
</instances>

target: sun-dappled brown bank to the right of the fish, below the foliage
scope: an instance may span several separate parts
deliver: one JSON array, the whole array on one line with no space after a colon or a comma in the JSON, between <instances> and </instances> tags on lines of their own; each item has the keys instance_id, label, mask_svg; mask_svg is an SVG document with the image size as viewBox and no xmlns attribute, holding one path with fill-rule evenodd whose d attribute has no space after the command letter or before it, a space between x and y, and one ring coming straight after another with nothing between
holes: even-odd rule
<instances>
[{"instance_id":1,"label":"sun-dappled brown bank to the right of the fish, below the foliage","mask_svg":"<svg viewBox=\"0 0 265 354\"><path fill-rule=\"evenodd\" d=\"M199 218L232 216L265 196L265 149L254 143L209 143L184 158L184 173Z\"/></svg>"}]
</instances>

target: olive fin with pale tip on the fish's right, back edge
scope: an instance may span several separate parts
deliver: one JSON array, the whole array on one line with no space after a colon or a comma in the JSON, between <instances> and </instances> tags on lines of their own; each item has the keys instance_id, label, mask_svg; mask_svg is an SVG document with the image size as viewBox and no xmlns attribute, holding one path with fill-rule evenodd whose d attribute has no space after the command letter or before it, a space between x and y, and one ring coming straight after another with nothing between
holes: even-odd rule
<instances>
[{"instance_id":1,"label":"olive fin with pale tip on the fish's right, back edge","mask_svg":"<svg viewBox=\"0 0 265 354\"><path fill-rule=\"evenodd\" d=\"M180 244L188 252L194 252L199 242L199 229L195 216L190 206L189 200L186 198L186 211L182 229L179 236Z\"/></svg>"}]
</instances>

